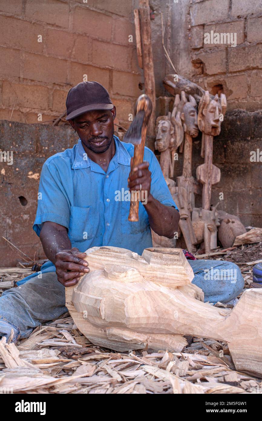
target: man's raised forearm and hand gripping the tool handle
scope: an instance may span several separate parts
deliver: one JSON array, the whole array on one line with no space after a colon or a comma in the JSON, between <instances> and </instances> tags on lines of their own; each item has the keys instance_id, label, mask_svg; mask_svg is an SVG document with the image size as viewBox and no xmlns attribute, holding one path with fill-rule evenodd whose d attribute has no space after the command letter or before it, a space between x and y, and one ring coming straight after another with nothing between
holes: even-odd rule
<instances>
[{"instance_id":1,"label":"man's raised forearm and hand gripping the tool handle","mask_svg":"<svg viewBox=\"0 0 262 421\"><path fill-rule=\"evenodd\" d=\"M131 158L131 168L132 168ZM149 224L154 232L167 238L173 238L178 231L178 222L180 220L179 212L173 206L166 206L156 200L150 193L151 172L148 169L149 163L143 162L137 165L133 172L129 174L128 187L131 190L141 190L146 192L147 204L145 209L148 213Z\"/></svg>"}]
</instances>

